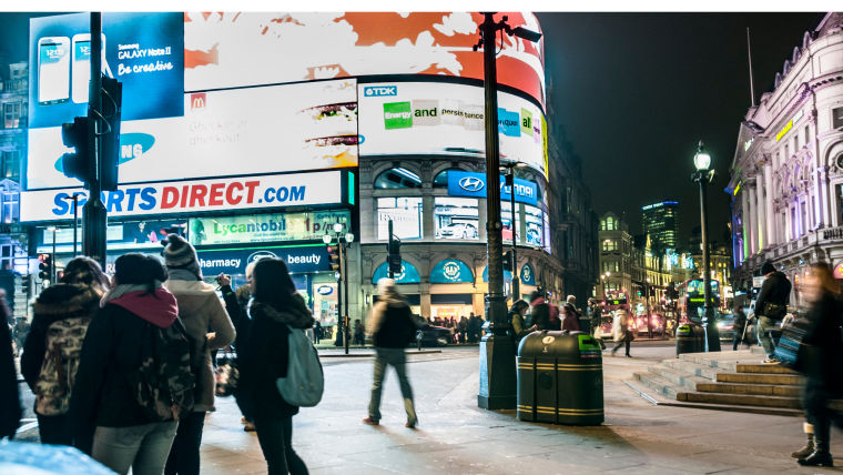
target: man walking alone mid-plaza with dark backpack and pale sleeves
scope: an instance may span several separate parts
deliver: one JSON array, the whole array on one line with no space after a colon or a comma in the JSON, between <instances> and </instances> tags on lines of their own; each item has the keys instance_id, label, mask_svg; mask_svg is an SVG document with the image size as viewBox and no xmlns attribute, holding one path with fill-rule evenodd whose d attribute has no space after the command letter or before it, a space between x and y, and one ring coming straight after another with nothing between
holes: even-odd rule
<instances>
[{"instance_id":1,"label":"man walking alone mid-plaza with dark backpack and pale sleeves","mask_svg":"<svg viewBox=\"0 0 843 475\"><path fill-rule=\"evenodd\" d=\"M398 293L398 287L392 279L377 282L378 301L369 316L369 334L375 343L375 376L369 402L369 415L364 418L366 424L380 423L380 393L383 392L386 367L393 366L398 374L398 383L404 397L404 408L407 412L405 427L414 428L418 424L416 408L413 404L413 388L407 378L407 354L404 350L414 340L416 325L413 324L409 305Z\"/></svg>"}]
</instances>

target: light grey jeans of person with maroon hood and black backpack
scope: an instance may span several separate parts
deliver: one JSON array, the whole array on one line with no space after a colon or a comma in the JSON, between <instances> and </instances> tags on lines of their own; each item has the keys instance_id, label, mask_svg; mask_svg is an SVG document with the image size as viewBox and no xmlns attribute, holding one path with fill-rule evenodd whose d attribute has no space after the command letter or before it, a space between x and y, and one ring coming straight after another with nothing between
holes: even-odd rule
<instances>
[{"instance_id":1,"label":"light grey jeans of person with maroon hood and black backpack","mask_svg":"<svg viewBox=\"0 0 843 475\"><path fill-rule=\"evenodd\" d=\"M166 454L175 437L177 421L133 425L130 427L97 427L93 436L93 459L125 475L161 475Z\"/></svg>"}]
</instances>

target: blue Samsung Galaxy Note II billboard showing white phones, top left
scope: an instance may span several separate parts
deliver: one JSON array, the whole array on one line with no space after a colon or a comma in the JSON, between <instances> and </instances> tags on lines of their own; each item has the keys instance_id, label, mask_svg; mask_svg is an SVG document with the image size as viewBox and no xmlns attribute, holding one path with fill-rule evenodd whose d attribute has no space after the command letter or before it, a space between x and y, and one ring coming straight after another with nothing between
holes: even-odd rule
<instances>
[{"instance_id":1,"label":"blue Samsung Galaxy Note II billboard showing white phones, top left","mask_svg":"<svg viewBox=\"0 0 843 475\"><path fill-rule=\"evenodd\" d=\"M30 20L30 129L88 114L90 19L72 13ZM123 83L123 121L184 115L182 12L105 12L102 38L102 72Z\"/></svg>"}]
</instances>

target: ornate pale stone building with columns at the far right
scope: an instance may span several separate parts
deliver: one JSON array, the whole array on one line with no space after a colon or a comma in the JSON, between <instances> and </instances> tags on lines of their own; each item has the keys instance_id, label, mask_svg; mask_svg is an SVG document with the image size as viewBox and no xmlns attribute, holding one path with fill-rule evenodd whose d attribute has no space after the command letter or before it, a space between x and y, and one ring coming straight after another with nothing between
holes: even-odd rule
<instances>
[{"instance_id":1,"label":"ornate pale stone building with columns at the far right","mask_svg":"<svg viewBox=\"0 0 843 475\"><path fill-rule=\"evenodd\" d=\"M815 262L843 277L843 13L830 12L788 54L774 90L741 122L732 195L737 289L769 261L793 282Z\"/></svg>"}]
</instances>

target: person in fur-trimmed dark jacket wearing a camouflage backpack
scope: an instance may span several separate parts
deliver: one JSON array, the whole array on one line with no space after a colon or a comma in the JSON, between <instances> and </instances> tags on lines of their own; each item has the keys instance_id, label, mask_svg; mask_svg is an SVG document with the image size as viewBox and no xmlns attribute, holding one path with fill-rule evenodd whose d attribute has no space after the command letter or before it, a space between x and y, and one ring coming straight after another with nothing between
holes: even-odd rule
<instances>
[{"instance_id":1,"label":"person in fur-trimmed dark jacket wearing a camouflage backpack","mask_svg":"<svg viewBox=\"0 0 843 475\"><path fill-rule=\"evenodd\" d=\"M90 437L74 441L65 429L65 422L72 393L78 387L82 343L108 289L109 277L97 261L75 257L64 267L61 281L44 289L32 306L34 317L20 368L35 395L42 444L72 445L91 452Z\"/></svg>"}]
</instances>

